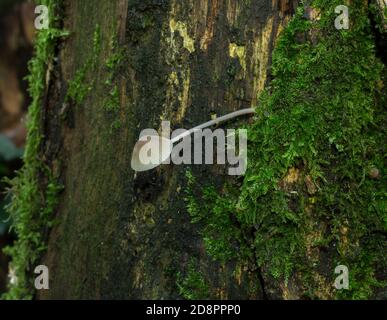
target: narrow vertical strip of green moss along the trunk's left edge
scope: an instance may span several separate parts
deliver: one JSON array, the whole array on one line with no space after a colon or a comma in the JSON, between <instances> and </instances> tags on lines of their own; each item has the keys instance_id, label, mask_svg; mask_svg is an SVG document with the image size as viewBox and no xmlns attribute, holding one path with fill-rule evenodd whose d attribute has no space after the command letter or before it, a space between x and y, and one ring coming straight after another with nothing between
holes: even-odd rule
<instances>
[{"instance_id":1,"label":"narrow vertical strip of green moss along the trunk's left edge","mask_svg":"<svg viewBox=\"0 0 387 320\"><path fill-rule=\"evenodd\" d=\"M55 12L58 1L44 0L50 12ZM11 269L17 283L10 285L5 299L31 299L33 297L32 272L46 250L46 231L52 226L52 212L62 189L48 166L41 160L42 141L41 103L46 85L46 70L54 55L56 42L68 33L55 27L57 19L51 19L50 28L39 32L35 44L35 57L29 64L29 92L32 103L28 112L28 135L24 153L24 166L10 183L12 202L7 211L12 218L12 228L17 240L6 253L12 258Z\"/></svg>"}]
</instances>

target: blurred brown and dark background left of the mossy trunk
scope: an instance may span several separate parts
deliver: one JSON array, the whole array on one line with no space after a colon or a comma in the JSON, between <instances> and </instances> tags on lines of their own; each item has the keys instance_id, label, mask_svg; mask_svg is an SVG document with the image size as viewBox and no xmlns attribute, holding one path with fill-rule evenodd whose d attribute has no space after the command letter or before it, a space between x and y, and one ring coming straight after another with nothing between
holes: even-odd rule
<instances>
[{"instance_id":1,"label":"blurred brown and dark background left of the mossy trunk","mask_svg":"<svg viewBox=\"0 0 387 320\"><path fill-rule=\"evenodd\" d=\"M0 0L0 296L8 281L3 248L14 241L5 207L10 201L6 179L22 165L25 117L30 98L24 80L35 37L32 1Z\"/></svg>"}]
</instances>

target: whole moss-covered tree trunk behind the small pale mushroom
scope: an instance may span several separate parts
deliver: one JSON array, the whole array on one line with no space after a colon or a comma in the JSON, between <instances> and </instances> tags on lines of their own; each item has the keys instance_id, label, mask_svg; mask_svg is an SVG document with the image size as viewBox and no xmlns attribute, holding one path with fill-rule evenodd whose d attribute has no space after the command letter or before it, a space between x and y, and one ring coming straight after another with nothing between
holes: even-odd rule
<instances>
[{"instance_id":1,"label":"whole moss-covered tree trunk behind the small pale mushroom","mask_svg":"<svg viewBox=\"0 0 387 320\"><path fill-rule=\"evenodd\" d=\"M386 297L384 4L42 1L7 297L39 263L39 299ZM132 170L142 130L257 106L244 177Z\"/></svg>"}]
</instances>

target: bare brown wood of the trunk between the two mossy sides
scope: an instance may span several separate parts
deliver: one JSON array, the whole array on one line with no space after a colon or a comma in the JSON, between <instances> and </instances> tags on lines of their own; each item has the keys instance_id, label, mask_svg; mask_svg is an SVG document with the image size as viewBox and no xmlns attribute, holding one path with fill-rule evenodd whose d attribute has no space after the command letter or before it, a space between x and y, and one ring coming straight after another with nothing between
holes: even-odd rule
<instances>
[{"instance_id":1,"label":"bare brown wood of the trunk between the two mossy sides","mask_svg":"<svg viewBox=\"0 0 387 320\"><path fill-rule=\"evenodd\" d=\"M65 189L38 298L181 298L190 269L206 298L265 297L259 270L206 254L184 202L187 166L135 174L130 163L140 131L162 120L188 129L255 107L295 2L64 1L71 35L50 75L44 153ZM225 178L194 170L203 183Z\"/></svg>"}]
</instances>

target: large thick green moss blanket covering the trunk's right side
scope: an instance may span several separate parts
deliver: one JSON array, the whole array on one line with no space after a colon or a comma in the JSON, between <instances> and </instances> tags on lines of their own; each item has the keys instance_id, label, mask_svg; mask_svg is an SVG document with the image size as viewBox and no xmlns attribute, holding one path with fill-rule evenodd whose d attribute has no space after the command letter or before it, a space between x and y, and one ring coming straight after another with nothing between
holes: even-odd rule
<instances>
[{"instance_id":1,"label":"large thick green moss blanket covering the trunk's right side","mask_svg":"<svg viewBox=\"0 0 387 320\"><path fill-rule=\"evenodd\" d=\"M350 28L337 30L338 5L312 1L313 19L300 7L280 36L274 80L248 129L240 194L223 190L208 205L190 198L189 211L204 224L209 253L208 243L229 237L224 221L211 216L233 213L234 226L250 230L247 242L265 279L285 287L296 281L301 297L383 297L386 72L375 55L368 6L352 1ZM219 197L234 207L219 211ZM349 290L333 289L339 264L349 268Z\"/></svg>"}]
</instances>

